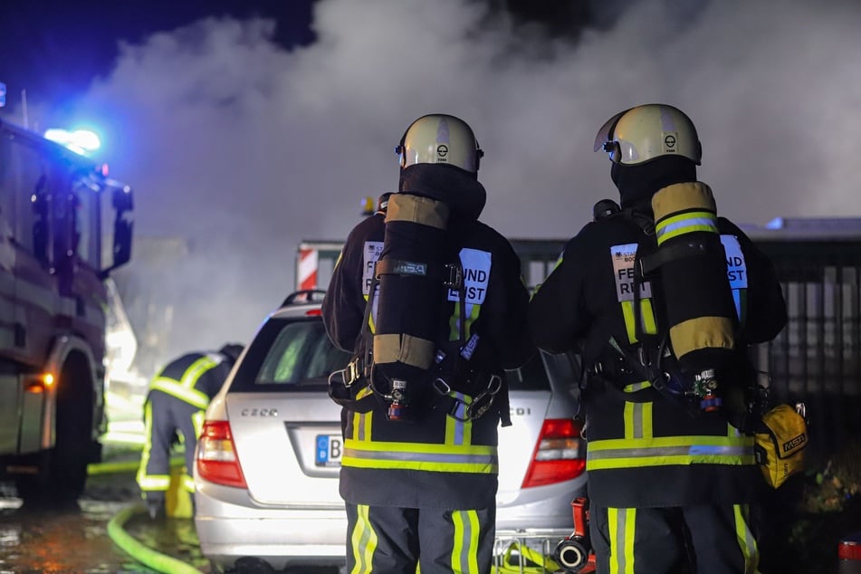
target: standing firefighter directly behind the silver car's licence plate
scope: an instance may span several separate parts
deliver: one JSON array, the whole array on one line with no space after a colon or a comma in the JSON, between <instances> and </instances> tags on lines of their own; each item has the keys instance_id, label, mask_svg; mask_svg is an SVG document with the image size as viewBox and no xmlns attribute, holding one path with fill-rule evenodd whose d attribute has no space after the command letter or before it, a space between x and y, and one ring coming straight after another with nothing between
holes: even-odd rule
<instances>
[{"instance_id":1,"label":"standing firefighter directly behind the silver car's licence plate","mask_svg":"<svg viewBox=\"0 0 861 574\"><path fill-rule=\"evenodd\" d=\"M354 357L330 378L344 407L347 570L488 573L504 369L535 352L529 294L511 244L478 220L473 130L426 115L396 151L398 192L349 233L322 305Z\"/></svg>"}]
</instances>

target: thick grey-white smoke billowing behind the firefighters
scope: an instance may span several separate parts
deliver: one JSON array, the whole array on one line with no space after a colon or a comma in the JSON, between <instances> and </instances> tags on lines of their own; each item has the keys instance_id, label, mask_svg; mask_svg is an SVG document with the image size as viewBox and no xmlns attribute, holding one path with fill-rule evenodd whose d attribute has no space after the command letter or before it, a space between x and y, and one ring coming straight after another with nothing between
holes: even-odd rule
<instances>
[{"instance_id":1,"label":"thick grey-white smoke billowing behind the firefighters","mask_svg":"<svg viewBox=\"0 0 861 574\"><path fill-rule=\"evenodd\" d=\"M576 44L535 44L467 0L320 0L318 41L289 53L264 20L123 45L82 108L113 122L141 240L190 248L169 271L122 273L177 301L170 353L248 340L291 291L298 242L343 239L362 196L396 187L392 149L432 111L474 127L483 219L511 237L568 237L615 196L595 132L651 101L694 119L722 214L859 215L861 5L679 4L633 3Z\"/></svg>"}]
</instances>

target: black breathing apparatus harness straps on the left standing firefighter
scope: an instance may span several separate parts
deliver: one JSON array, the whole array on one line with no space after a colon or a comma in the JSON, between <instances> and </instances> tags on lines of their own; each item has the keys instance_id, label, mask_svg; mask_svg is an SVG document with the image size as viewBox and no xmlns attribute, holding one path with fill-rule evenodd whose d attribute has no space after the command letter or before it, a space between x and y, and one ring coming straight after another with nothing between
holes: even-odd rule
<instances>
[{"instance_id":1,"label":"black breathing apparatus harness straps on the left standing firefighter","mask_svg":"<svg viewBox=\"0 0 861 574\"><path fill-rule=\"evenodd\" d=\"M380 277L386 274L397 275L436 275L445 289L458 292L459 299L459 337L436 349L434 365L423 374L425 380L407 381L393 378L388 388L382 387L374 361L374 333L370 330L370 318L378 295ZM466 284L464 268L460 261L445 263L441 271L435 273L426 263L386 259L375 265L373 281L365 304L362 330L359 337L362 343L359 352L349 361L346 368L334 371L329 377L330 397L341 407L358 413L368 413L377 405L385 409L386 416L392 421L412 421L423 411L445 404L448 416L466 422L480 418L493 407L497 396L503 390L504 380L498 374L483 374L469 368L475 349L480 341L474 333L466 340ZM427 380L431 379L431 380ZM465 385L464 382L466 381ZM433 394L427 392L429 382ZM419 390L413 390L420 386ZM368 392L369 391L369 392ZM474 393L470 400L466 392ZM429 398L428 396L431 396ZM502 401L507 403L507 392L502 392ZM502 426L510 426L508 406L500 405Z\"/></svg>"}]
</instances>

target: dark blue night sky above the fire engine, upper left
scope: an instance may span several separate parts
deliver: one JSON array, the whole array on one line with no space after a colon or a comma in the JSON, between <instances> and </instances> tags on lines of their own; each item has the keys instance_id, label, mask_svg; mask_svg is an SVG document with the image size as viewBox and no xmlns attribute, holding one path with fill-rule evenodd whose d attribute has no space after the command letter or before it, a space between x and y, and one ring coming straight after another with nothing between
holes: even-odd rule
<instances>
[{"instance_id":1,"label":"dark blue night sky above the fire engine, upper left","mask_svg":"<svg viewBox=\"0 0 861 574\"><path fill-rule=\"evenodd\" d=\"M0 81L10 105L22 90L62 101L110 72L119 42L139 43L207 16L272 18L273 41L311 43L311 0L4 0L0 3Z\"/></svg>"}]
</instances>

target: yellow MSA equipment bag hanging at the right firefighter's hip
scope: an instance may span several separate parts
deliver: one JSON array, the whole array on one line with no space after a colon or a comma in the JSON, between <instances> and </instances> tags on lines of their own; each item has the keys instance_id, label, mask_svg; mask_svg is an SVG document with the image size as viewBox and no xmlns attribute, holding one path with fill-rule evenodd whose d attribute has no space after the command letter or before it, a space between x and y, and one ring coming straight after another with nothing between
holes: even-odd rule
<instances>
[{"instance_id":1,"label":"yellow MSA equipment bag hanging at the right firefighter's hip","mask_svg":"<svg viewBox=\"0 0 861 574\"><path fill-rule=\"evenodd\" d=\"M756 432L757 462L765 482L778 488L793 474L804 470L804 447L808 444L808 426L804 405L778 405L762 416Z\"/></svg>"}]
</instances>

